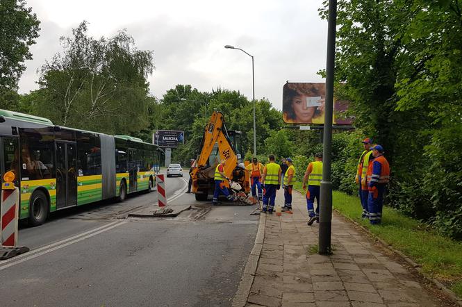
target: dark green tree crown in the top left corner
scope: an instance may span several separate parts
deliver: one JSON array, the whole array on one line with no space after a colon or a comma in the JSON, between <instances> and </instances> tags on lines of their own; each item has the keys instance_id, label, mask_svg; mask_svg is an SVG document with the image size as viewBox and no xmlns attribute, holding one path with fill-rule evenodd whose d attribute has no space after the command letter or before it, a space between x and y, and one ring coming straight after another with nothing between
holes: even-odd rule
<instances>
[{"instance_id":1,"label":"dark green tree crown in the top left corner","mask_svg":"<svg viewBox=\"0 0 462 307\"><path fill-rule=\"evenodd\" d=\"M26 69L24 60L31 60L29 47L35 44L40 22L25 0L0 2L0 94L15 90Z\"/></svg>"}]
</instances>

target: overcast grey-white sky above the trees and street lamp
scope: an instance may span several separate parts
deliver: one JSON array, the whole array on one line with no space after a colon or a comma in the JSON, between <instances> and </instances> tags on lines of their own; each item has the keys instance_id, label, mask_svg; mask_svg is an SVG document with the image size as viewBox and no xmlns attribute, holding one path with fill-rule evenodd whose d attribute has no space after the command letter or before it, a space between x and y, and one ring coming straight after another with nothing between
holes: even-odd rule
<instances>
[{"instance_id":1,"label":"overcast grey-white sky above the trees and street lamp","mask_svg":"<svg viewBox=\"0 0 462 307\"><path fill-rule=\"evenodd\" d=\"M33 60L19 81L19 92L38 88L37 69L62 48L83 20L89 34L111 37L126 28L138 49L154 51L156 69L149 76L151 94L161 98L177 84L199 91L239 90L251 99L254 56L255 97L282 107L286 81L323 81L316 72L326 65L327 21L317 9L322 0L158 1L28 0L40 19Z\"/></svg>"}]
</instances>

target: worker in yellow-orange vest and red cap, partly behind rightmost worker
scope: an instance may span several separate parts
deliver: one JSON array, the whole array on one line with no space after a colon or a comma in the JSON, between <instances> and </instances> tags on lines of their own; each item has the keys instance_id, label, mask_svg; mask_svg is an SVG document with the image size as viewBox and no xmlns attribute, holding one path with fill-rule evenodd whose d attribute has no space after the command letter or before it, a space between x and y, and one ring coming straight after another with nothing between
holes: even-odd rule
<instances>
[{"instance_id":1,"label":"worker in yellow-orange vest and red cap, partly behind rightmost worker","mask_svg":"<svg viewBox=\"0 0 462 307\"><path fill-rule=\"evenodd\" d=\"M361 157L358 160L358 169L356 171L356 183L359 183L359 199L361 200L361 206L363 207L362 217L368 217L368 195L369 188L367 182L366 173L368 172L368 166L370 160L372 160L372 140L370 138L365 138L363 140L364 151L361 154Z\"/></svg>"}]
</instances>

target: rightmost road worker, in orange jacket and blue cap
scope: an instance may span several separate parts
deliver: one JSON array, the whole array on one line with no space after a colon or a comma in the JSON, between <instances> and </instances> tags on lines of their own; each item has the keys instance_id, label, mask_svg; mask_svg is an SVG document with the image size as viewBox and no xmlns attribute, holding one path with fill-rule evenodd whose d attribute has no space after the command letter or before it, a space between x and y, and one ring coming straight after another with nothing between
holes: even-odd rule
<instances>
[{"instance_id":1,"label":"rightmost road worker, in orange jacket and blue cap","mask_svg":"<svg viewBox=\"0 0 462 307\"><path fill-rule=\"evenodd\" d=\"M374 160L370 161L368 167L368 208L370 224L380 224L382 219L383 194L390 181L390 165L383 156L383 147L375 145L372 147ZM372 163L371 163L372 162Z\"/></svg>"}]
</instances>

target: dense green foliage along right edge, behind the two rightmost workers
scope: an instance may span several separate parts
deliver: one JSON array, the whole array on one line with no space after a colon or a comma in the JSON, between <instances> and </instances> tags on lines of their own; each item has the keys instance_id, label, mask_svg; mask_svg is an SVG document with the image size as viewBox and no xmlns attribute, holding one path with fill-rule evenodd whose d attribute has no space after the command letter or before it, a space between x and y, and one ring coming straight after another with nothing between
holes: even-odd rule
<instances>
[{"instance_id":1,"label":"dense green foliage along right edge, behind the two rightmost workers","mask_svg":"<svg viewBox=\"0 0 462 307\"><path fill-rule=\"evenodd\" d=\"M340 0L336 52L339 92L391 161L390 203L455 238L462 238L461 9L458 0Z\"/></svg>"}]
</instances>

